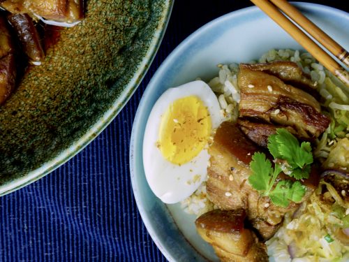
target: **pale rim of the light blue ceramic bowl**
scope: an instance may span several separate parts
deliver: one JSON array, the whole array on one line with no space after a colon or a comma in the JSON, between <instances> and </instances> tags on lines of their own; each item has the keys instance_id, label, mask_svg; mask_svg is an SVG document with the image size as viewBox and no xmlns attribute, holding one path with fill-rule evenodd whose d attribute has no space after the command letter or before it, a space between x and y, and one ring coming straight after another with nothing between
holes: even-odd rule
<instances>
[{"instance_id":1,"label":"pale rim of the light blue ceramic bowl","mask_svg":"<svg viewBox=\"0 0 349 262\"><path fill-rule=\"evenodd\" d=\"M322 5L319 3L292 2L292 4L294 4L295 6L297 6L299 8L304 8L306 10L311 10L313 12L327 12L327 13L334 13L335 15L348 15L343 10L333 8L330 6L325 6L325 5ZM213 27L215 24L221 23L224 20L232 19L232 17L239 17L239 16L244 16L244 15L251 16L251 15L253 15L253 13L261 13L261 12L262 11L257 6L249 6L246 8L239 9L239 10L234 10L230 13L225 14L225 15L221 15L220 17L217 17L214 20L211 20L210 22L207 22L207 24L204 24L202 27L193 31L192 34L190 34L188 37L186 37L184 39L184 41L179 43L179 45L177 45L177 47L174 48L174 50L172 50L172 52L170 52L168 57L166 57L166 59L163 61L163 63L158 67L158 69L154 73L153 77L149 81L149 84L147 85L147 87L144 91L144 94L142 95L142 98L140 100L140 103L138 105L138 110L135 113L135 118L133 121L133 128L131 131L130 156L129 156L131 184L133 187L133 195L135 196L135 202L138 206L138 210L140 212L140 216L142 217L142 221L144 223L144 226L147 228L147 231L148 231L149 235L151 236L151 239L155 242L158 249L160 249L161 253L165 256L166 259L168 259L168 261L177 261L176 256L174 256L174 254L171 250L166 249L164 247L164 245L162 245L161 240L158 239L158 234L156 233L157 228L153 224L153 221L151 219L151 214L149 214L143 208L143 206L142 206L143 199L140 198L140 196L138 194L139 187L138 187L138 182L136 181L136 177L139 174L136 174L137 168L135 168L135 163L136 162L138 163L138 156L137 156L137 154L135 154L135 152L136 152L135 147L137 147L136 140L139 138L139 136L142 136L142 133L140 131L140 124L138 124L138 123L140 123L140 119L142 117L142 112L141 112L140 108L144 107L144 104L146 103L145 101L147 101L149 96L151 96L151 89L152 89L152 87L156 86L154 84L154 82L156 82L156 79L161 78L160 75L162 75L166 71L166 68L169 66L169 64L172 62L172 60L174 60L175 57L177 57L177 55L180 54L181 51L184 50L184 48L186 48L186 46L189 43L191 43L192 41L195 40L195 38L200 36L200 34L202 34L202 31L205 31L205 30L209 29L209 27ZM138 150L139 149L140 148L138 148ZM140 151L142 151L142 150L140 150ZM142 163L142 160L140 162ZM154 195L154 198L156 198L155 195ZM163 204L163 205L165 205L165 204ZM167 208L165 210L168 211ZM178 231L179 231L179 229L178 229ZM180 231L179 231L179 233L182 234ZM198 251L194 247L193 247L193 249L195 252L198 253ZM202 255L200 254L200 256L202 256ZM202 259L205 260L206 258L204 256L202 256Z\"/></svg>"}]
</instances>

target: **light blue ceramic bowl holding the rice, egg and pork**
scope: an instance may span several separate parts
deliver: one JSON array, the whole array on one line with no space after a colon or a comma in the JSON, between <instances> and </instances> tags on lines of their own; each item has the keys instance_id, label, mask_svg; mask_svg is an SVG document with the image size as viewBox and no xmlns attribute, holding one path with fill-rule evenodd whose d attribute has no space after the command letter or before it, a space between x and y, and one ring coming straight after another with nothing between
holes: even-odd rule
<instances>
[{"instance_id":1,"label":"light blue ceramic bowl holding the rice, egg and pork","mask_svg":"<svg viewBox=\"0 0 349 262\"><path fill-rule=\"evenodd\" d=\"M347 13L311 3L296 4L348 50ZM258 8L237 10L209 22L186 38L165 59L144 92L131 136L131 181L144 224L169 261L217 261L217 258L195 232L195 216L181 212L179 205L163 204L148 187L142 142L149 112L165 89L198 77L208 80L217 75L217 64L251 61L272 48L302 49Z\"/></svg>"}]
</instances>

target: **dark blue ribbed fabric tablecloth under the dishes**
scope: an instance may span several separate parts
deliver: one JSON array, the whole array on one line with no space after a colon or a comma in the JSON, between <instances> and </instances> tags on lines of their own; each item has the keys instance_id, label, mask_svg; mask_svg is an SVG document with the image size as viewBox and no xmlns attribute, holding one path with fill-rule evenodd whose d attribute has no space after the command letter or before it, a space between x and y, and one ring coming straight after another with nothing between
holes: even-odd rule
<instances>
[{"instance_id":1,"label":"dark blue ribbed fabric tablecloth under the dishes","mask_svg":"<svg viewBox=\"0 0 349 262\"><path fill-rule=\"evenodd\" d=\"M348 11L346 1L313 1ZM203 24L249 1L177 0L154 62L112 124L43 179L0 198L0 261L166 261L142 224L128 147L151 75ZM340 25L339 25L340 26Z\"/></svg>"}]
</instances>

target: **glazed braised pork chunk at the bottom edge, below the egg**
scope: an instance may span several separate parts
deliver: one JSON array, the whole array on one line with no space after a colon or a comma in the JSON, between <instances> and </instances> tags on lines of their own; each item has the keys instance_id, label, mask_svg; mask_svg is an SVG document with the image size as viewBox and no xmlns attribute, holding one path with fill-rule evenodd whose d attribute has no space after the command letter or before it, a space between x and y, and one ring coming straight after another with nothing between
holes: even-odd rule
<instances>
[{"instance_id":1,"label":"glazed braised pork chunk at the bottom edge, below the egg","mask_svg":"<svg viewBox=\"0 0 349 262\"><path fill-rule=\"evenodd\" d=\"M267 247L244 227L244 210L212 210L195 221L200 236L223 262L268 261Z\"/></svg>"}]
</instances>

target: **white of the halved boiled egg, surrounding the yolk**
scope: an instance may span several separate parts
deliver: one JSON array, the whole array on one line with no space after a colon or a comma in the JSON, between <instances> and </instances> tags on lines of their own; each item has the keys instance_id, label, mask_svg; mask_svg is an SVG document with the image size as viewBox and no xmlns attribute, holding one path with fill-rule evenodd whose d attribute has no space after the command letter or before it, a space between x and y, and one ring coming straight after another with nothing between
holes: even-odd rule
<instances>
[{"instance_id":1,"label":"white of the halved boiled egg, surrounding the yolk","mask_svg":"<svg viewBox=\"0 0 349 262\"><path fill-rule=\"evenodd\" d=\"M212 129L216 129L223 122L221 108L214 92L202 81L193 81L166 90L152 108L145 128L144 173L149 187L164 203L178 203L191 196L207 177L209 163L207 147L191 161L179 166L165 159L156 146L161 116L175 100L193 95L205 104L211 117Z\"/></svg>"}]
</instances>

